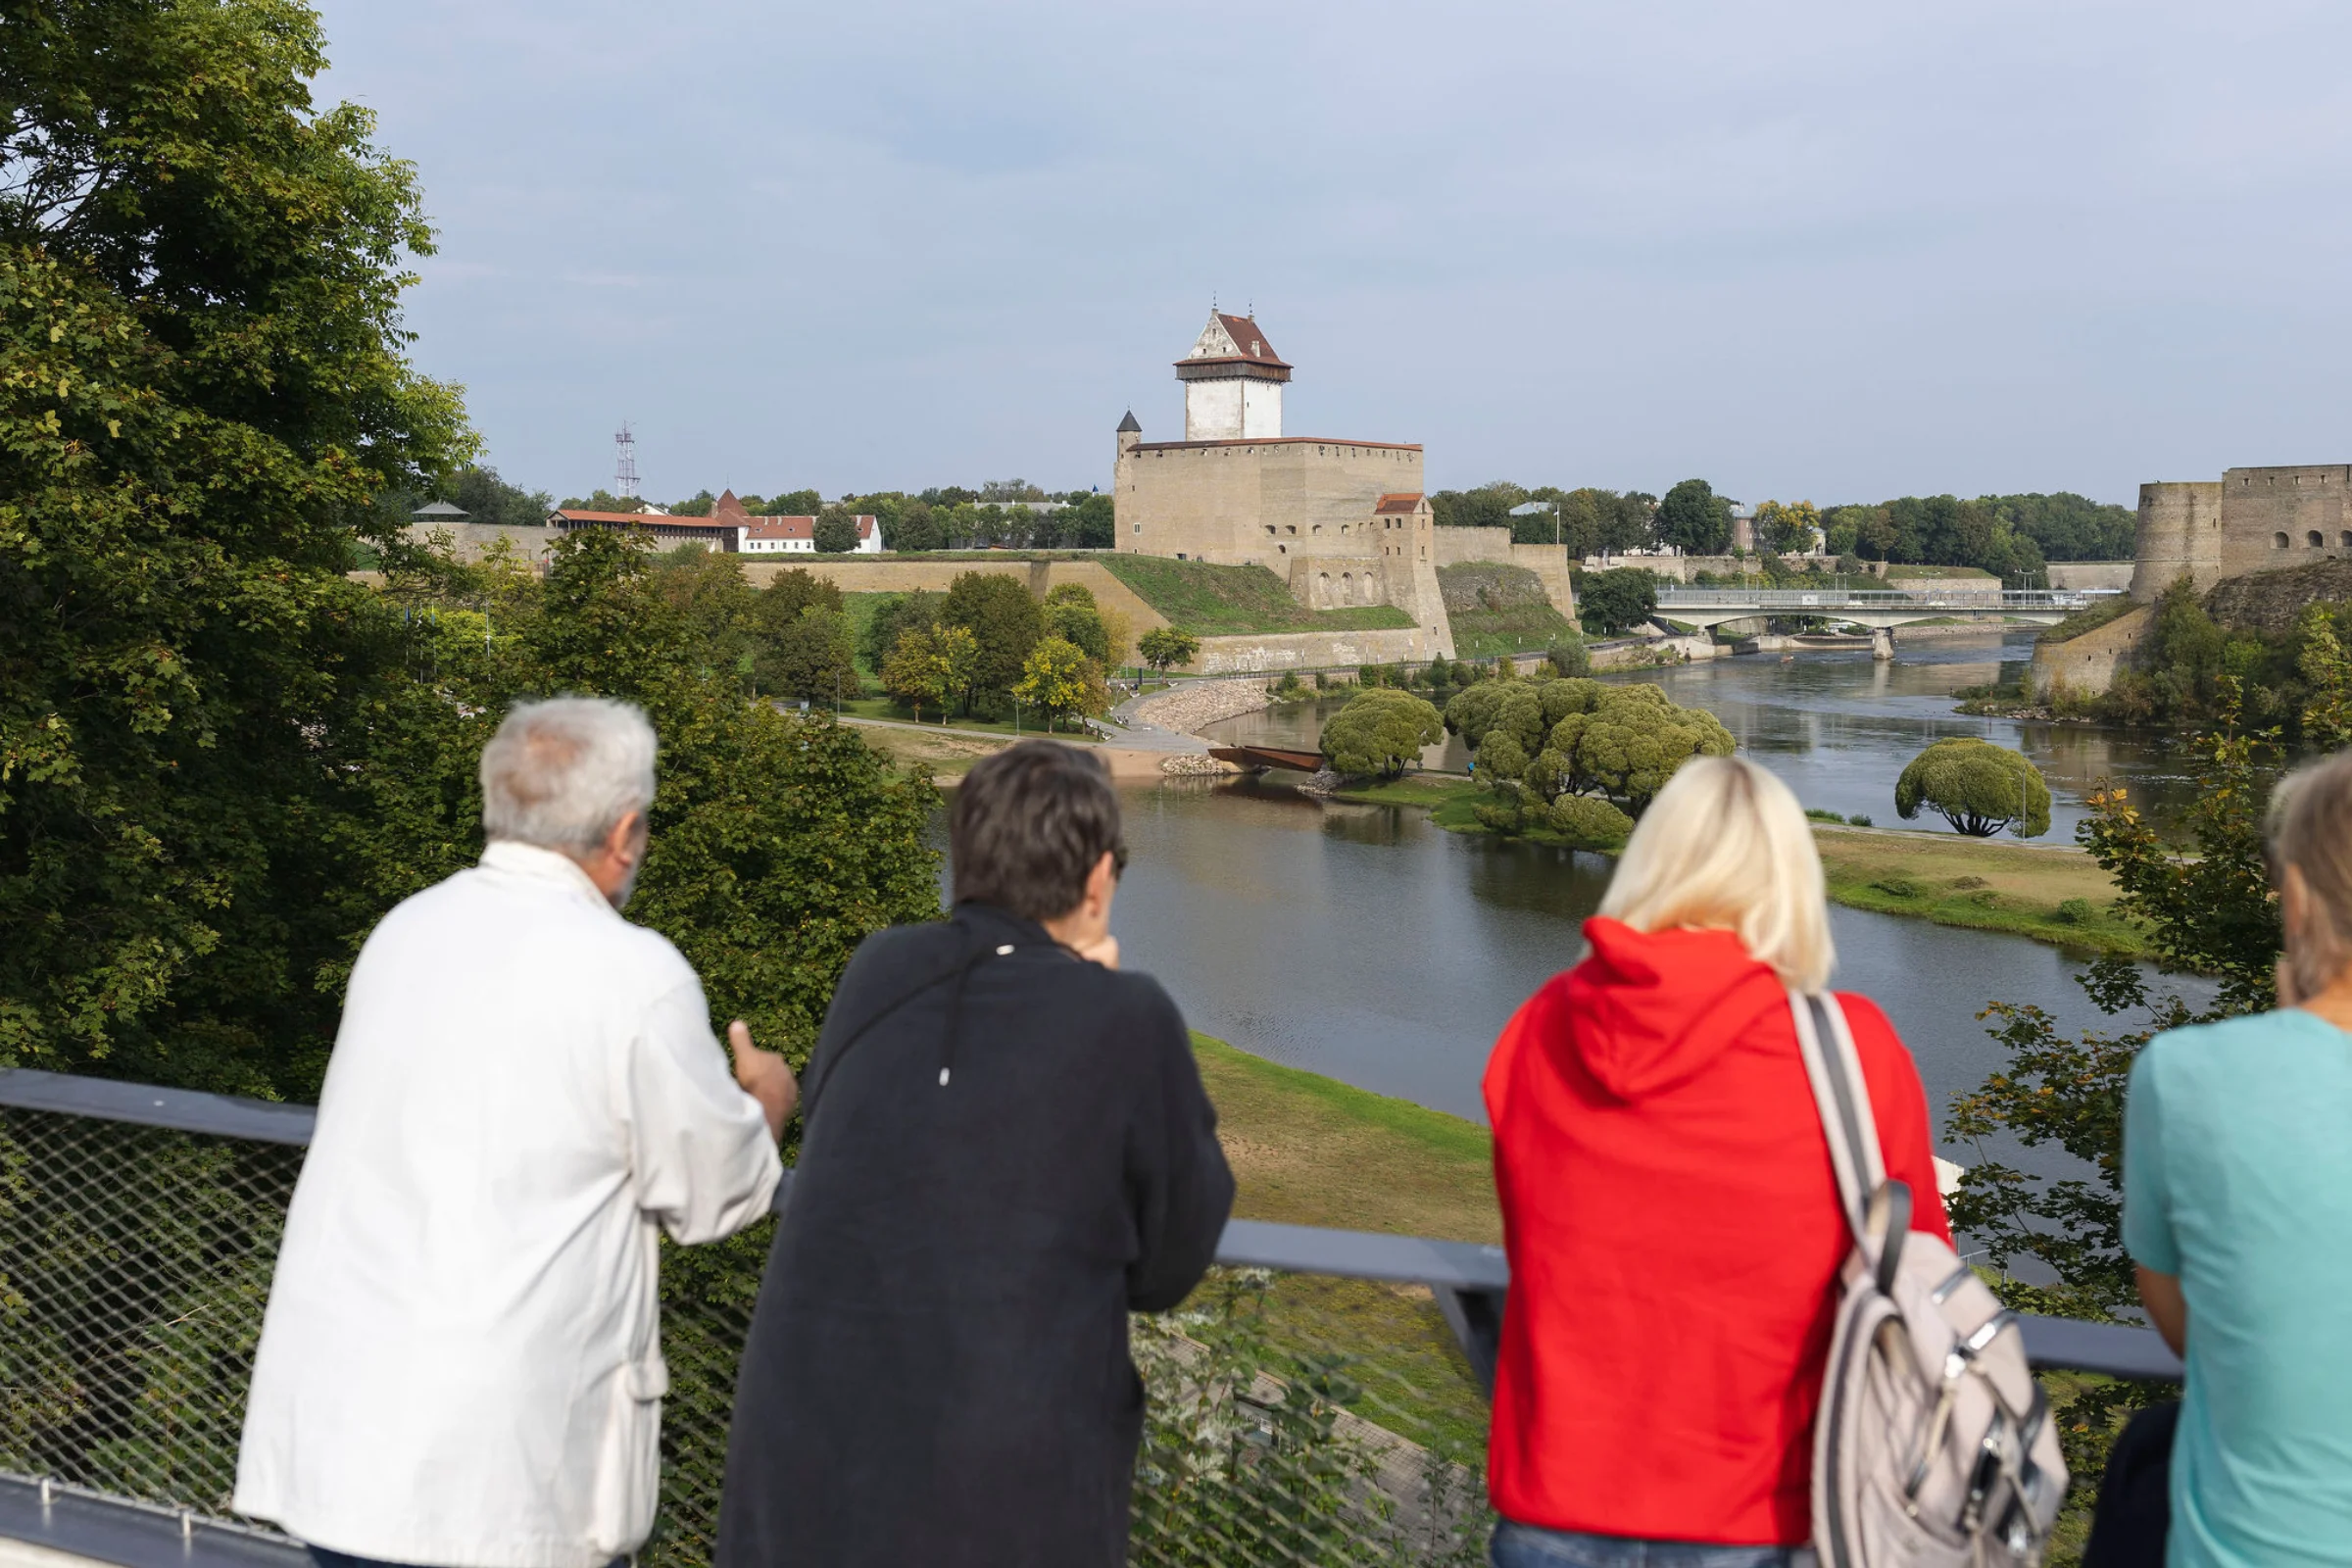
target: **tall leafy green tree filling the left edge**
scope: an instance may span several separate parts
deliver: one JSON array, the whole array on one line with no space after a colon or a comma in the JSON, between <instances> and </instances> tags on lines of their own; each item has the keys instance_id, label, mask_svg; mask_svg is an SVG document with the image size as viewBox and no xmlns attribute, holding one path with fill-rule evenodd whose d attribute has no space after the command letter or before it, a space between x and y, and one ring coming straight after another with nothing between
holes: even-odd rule
<instances>
[{"instance_id":1,"label":"tall leafy green tree filling the left edge","mask_svg":"<svg viewBox=\"0 0 2352 1568\"><path fill-rule=\"evenodd\" d=\"M416 708L343 571L473 442L405 360L414 172L322 66L292 2L0 7L7 1063L270 1093L332 1027L327 757Z\"/></svg>"}]
</instances>

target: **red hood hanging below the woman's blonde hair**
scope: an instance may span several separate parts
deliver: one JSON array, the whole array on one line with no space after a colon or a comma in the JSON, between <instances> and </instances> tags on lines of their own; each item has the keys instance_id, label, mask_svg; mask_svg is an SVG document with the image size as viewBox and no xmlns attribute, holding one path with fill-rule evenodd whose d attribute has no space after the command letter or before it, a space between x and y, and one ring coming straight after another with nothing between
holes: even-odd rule
<instances>
[{"instance_id":1,"label":"red hood hanging below the woman's blonde hair","mask_svg":"<svg viewBox=\"0 0 2352 1568\"><path fill-rule=\"evenodd\" d=\"M1635 931L1592 917L1569 971L1569 1046L1618 1100L1682 1084L1788 990L1731 931Z\"/></svg>"}]
</instances>

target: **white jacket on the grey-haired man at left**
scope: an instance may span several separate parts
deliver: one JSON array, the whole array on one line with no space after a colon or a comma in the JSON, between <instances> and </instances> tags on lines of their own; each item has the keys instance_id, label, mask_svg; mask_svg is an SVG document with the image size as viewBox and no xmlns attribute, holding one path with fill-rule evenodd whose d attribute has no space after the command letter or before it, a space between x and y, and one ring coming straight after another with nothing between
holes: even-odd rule
<instances>
[{"instance_id":1,"label":"white jacket on the grey-haired man at left","mask_svg":"<svg viewBox=\"0 0 2352 1568\"><path fill-rule=\"evenodd\" d=\"M353 969L238 1512L445 1568L635 1552L668 1387L656 1225L743 1229L779 1168L677 950L572 860L492 844Z\"/></svg>"}]
</instances>

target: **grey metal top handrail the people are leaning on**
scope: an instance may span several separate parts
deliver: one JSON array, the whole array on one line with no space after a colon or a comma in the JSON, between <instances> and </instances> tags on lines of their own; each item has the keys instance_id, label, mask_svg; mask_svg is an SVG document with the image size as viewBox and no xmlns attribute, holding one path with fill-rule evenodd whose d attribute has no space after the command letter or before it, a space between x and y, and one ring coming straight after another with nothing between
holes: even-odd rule
<instances>
[{"instance_id":1,"label":"grey metal top handrail the people are leaning on","mask_svg":"<svg viewBox=\"0 0 2352 1568\"><path fill-rule=\"evenodd\" d=\"M287 1145L308 1145L318 1119L318 1110L310 1105L85 1079L31 1067L0 1067L0 1105ZM788 1194L790 1171L776 1190L776 1208L783 1208ZM1324 1225L1228 1220L1216 1260L1244 1269L1430 1286L1472 1366L1482 1375L1491 1373L1494 1335L1501 1328L1510 1291L1510 1262L1501 1246ZM2025 1316L2023 1331L2025 1354L2034 1366L2110 1378L2180 1378L2180 1359L2152 1328Z\"/></svg>"}]
</instances>

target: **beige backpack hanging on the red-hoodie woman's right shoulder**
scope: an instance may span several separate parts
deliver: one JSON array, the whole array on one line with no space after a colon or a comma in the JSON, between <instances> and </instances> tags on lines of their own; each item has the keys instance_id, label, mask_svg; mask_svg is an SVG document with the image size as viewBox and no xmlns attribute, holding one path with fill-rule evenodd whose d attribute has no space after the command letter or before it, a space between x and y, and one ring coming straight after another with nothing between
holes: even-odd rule
<instances>
[{"instance_id":1,"label":"beige backpack hanging on the red-hoodie woman's right shoulder","mask_svg":"<svg viewBox=\"0 0 2352 1568\"><path fill-rule=\"evenodd\" d=\"M1886 1180L1835 997L1790 992L1804 1072L1853 1232L1813 1425L1823 1568L2039 1563L2065 1460L2018 1319Z\"/></svg>"}]
</instances>

